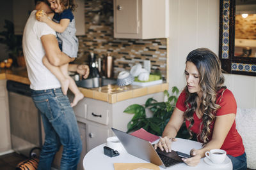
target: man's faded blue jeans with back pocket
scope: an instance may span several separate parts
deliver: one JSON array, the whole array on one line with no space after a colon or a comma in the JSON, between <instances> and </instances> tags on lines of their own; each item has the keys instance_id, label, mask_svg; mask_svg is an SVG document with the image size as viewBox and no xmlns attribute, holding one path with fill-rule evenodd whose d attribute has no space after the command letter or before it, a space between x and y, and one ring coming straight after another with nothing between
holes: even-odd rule
<instances>
[{"instance_id":1,"label":"man's faded blue jeans with back pocket","mask_svg":"<svg viewBox=\"0 0 256 170\"><path fill-rule=\"evenodd\" d=\"M45 141L38 169L51 169L56 152L63 145L60 169L76 169L82 143L76 116L67 96L61 89L31 90L31 97L40 110L44 124Z\"/></svg>"}]
</instances>

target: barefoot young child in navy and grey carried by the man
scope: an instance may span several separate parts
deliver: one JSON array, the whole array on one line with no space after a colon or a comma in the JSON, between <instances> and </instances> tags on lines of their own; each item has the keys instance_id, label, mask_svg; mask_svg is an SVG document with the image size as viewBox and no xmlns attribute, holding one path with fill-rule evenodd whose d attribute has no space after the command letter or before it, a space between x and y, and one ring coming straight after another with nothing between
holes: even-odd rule
<instances>
[{"instance_id":1,"label":"barefoot young child in navy and grey carried by the man","mask_svg":"<svg viewBox=\"0 0 256 170\"><path fill-rule=\"evenodd\" d=\"M38 11L39 14L36 13L36 19L45 22L56 31L62 52L66 53L69 57L77 57L78 39L76 38L75 18L72 14L72 11L76 8L74 0L47 1L54 13L46 14L44 11ZM77 88L75 81L68 76L68 64L56 67L50 64L46 57L43 58L43 63L60 81L63 94L67 95L68 87L74 93L75 97L71 106L76 106L77 102L83 99L84 96Z\"/></svg>"}]
</instances>

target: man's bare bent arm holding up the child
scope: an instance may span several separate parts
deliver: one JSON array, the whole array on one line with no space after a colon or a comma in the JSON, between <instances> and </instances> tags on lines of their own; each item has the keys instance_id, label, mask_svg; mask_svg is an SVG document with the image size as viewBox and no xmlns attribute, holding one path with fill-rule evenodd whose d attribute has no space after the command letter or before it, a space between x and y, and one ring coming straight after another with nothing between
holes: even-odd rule
<instances>
[{"instance_id":1,"label":"man's bare bent arm holding up the child","mask_svg":"<svg viewBox=\"0 0 256 170\"><path fill-rule=\"evenodd\" d=\"M53 34L41 36L41 41L44 46L45 55L53 66L62 66L75 60L61 52L56 36Z\"/></svg>"}]
</instances>

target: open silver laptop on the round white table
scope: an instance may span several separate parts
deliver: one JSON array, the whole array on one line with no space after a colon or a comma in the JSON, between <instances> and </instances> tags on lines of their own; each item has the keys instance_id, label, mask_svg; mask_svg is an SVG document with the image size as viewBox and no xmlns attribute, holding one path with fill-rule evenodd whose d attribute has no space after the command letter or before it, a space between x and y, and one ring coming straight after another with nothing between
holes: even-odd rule
<instances>
[{"instance_id":1,"label":"open silver laptop on the round white table","mask_svg":"<svg viewBox=\"0 0 256 170\"><path fill-rule=\"evenodd\" d=\"M163 168L183 162L178 153L174 150L168 153L161 151L158 147L157 150L155 150L154 146L152 146L149 141L137 138L136 136L119 131L113 127L111 129L116 134L116 137L120 140L125 150L135 157L139 157L140 159Z\"/></svg>"}]
</instances>

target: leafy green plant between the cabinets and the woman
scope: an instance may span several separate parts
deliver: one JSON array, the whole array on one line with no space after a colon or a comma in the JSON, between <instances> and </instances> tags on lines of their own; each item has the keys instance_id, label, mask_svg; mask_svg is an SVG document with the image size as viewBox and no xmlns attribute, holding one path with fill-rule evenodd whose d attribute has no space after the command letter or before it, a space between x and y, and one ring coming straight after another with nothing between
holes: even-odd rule
<instances>
[{"instance_id":1,"label":"leafy green plant between the cabinets and the woman","mask_svg":"<svg viewBox=\"0 0 256 170\"><path fill-rule=\"evenodd\" d=\"M155 99L149 98L145 105L132 104L128 106L124 112L134 114L134 117L132 117L132 120L127 124L127 133L137 131L142 127L152 134L162 136L164 127L168 124L172 116L178 95L179 89L173 87L171 96L167 90L164 90L164 96L167 97L166 102L157 102ZM152 111L152 117L146 116L146 109ZM190 135L184 122L180 127L177 138L188 139L189 137Z\"/></svg>"}]
</instances>

